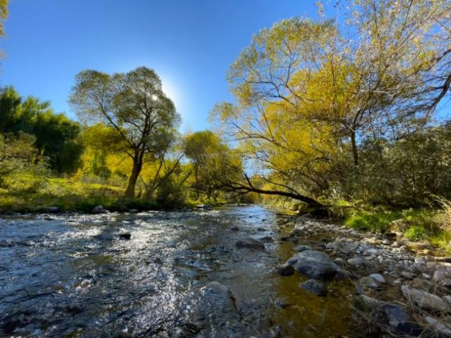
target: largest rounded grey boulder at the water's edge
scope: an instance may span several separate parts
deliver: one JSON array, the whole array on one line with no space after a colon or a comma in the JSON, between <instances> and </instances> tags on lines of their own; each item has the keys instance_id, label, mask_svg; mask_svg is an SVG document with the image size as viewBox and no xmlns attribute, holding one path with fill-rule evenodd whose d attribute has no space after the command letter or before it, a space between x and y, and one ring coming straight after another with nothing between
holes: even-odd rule
<instances>
[{"instance_id":1,"label":"largest rounded grey boulder at the water's edge","mask_svg":"<svg viewBox=\"0 0 451 338\"><path fill-rule=\"evenodd\" d=\"M296 253L288 263L300 274L313 279L332 279L340 270L327 254L315 250Z\"/></svg>"}]
</instances>

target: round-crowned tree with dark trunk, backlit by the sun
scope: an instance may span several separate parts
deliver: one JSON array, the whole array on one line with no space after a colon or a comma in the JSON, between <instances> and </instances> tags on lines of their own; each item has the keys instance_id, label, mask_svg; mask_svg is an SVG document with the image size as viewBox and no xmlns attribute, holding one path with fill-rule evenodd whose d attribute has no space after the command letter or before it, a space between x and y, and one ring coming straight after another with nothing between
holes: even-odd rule
<instances>
[{"instance_id":1,"label":"round-crowned tree with dark trunk, backlit by the sun","mask_svg":"<svg viewBox=\"0 0 451 338\"><path fill-rule=\"evenodd\" d=\"M70 103L85 123L104 123L111 141L133 160L125 195L134 197L143 164L167 146L162 140L180 120L158 75L146 67L113 75L82 71L76 76Z\"/></svg>"}]
</instances>

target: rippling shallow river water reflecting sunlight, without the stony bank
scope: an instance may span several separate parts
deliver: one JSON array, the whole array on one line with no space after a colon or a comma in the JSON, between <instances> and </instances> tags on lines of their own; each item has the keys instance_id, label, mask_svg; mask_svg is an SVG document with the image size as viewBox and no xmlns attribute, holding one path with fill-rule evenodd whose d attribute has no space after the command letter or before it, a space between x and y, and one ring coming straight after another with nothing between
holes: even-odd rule
<instances>
[{"instance_id":1,"label":"rippling shallow river water reflecting sunlight, without the stony bank","mask_svg":"<svg viewBox=\"0 0 451 338\"><path fill-rule=\"evenodd\" d=\"M0 337L356 337L346 282L317 297L275 273L294 253L283 219L260 206L4 216ZM249 236L274 242L235 247ZM233 296L205 292L212 281Z\"/></svg>"}]
</instances>

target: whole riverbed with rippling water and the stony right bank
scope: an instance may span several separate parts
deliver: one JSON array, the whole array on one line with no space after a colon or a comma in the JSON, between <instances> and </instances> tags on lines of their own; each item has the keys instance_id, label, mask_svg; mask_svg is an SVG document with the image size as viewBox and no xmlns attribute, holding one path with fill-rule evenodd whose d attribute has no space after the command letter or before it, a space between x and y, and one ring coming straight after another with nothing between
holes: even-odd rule
<instances>
[{"instance_id":1,"label":"whole riverbed with rippling water and the stony right bank","mask_svg":"<svg viewBox=\"0 0 451 338\"><path fill-rule=\"evenodd\" d=\"M0 335L448 335L427 244L261 206L0 218Z\"/></svg>"}]
</instances>

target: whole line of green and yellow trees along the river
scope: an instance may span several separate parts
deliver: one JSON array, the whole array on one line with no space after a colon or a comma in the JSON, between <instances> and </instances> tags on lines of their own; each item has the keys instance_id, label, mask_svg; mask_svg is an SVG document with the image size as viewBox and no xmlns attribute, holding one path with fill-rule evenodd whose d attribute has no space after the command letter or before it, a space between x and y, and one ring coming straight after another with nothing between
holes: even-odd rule
<instances>
[{"instance_id":1,"label":"whole line of green and yellow trees along the river","mask_svg":"<svg viewBox=\"0 0 451 338\"><path fill-rule=\"evenodd\" d=\"M283 19L252 37L228 72L235 103L213 107L212 130L180 134L146 67L78 73L78 122L3 87L3 195L53 196L59 177L142 206L450 199L450 1L341 1L334 19L327 1L318 8L317 19Z\"/></svg>"}]
</instances>

